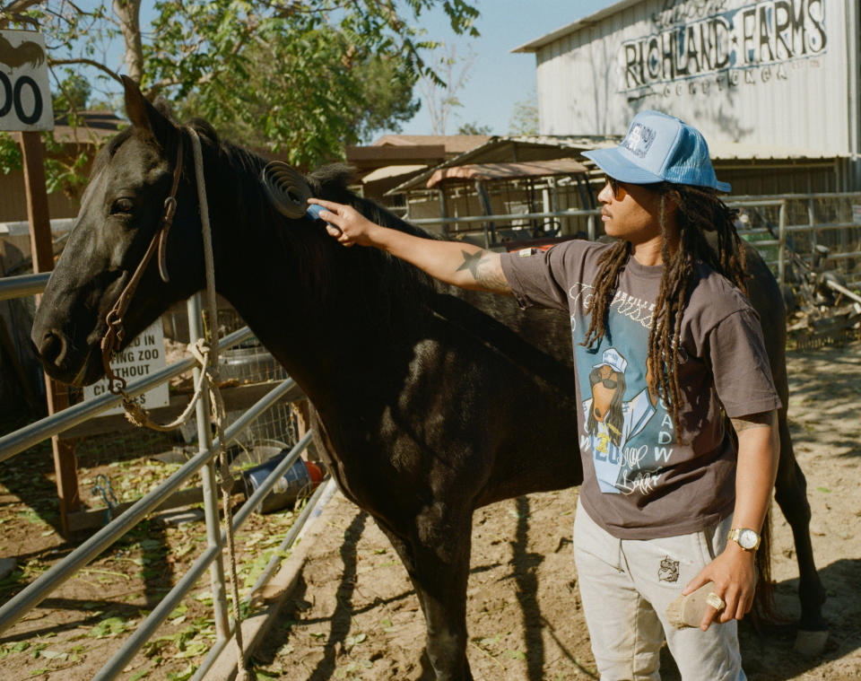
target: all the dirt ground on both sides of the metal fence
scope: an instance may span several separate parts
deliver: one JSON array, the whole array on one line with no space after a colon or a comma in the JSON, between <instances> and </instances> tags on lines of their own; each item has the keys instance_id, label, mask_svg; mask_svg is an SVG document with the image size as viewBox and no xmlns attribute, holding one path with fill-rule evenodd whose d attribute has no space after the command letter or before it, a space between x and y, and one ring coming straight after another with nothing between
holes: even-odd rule
<instances>
[{"instance_id":1,"label":"all the dirt ground on both sides of the metal fence","mask_svg":"<svg viewBox=\"0 0 861 681\"><path fill-rule=\"evenodd\" d=\"M757 632L743 623L744 667L754 681L859 679L861 343L793 351L789 364L791 429L808 481L831 635L821 655L804 657L793 650L791 625ZM74 547L57 535L45 455L34 455L26 466L20 458L0 465L0 557L18 563L0 581L2 600ZM32 464L36 460L39 465ZM170 471L147 461L82 465L83 485L92 486L100 472L117 481L117 490L135 496ZM576 494L533 494L476 514L467 605L467 653L476 679L596 678L571 556ZM290 511L254 516L241 533L242 551L253 555L242 573L245 583L253 582L291 518ZM339 495L319 522L320 537L309 548L299 587L257 651L258 678L430 681L421 661L423 618L385 537ZM798 615L795 550L779 511L774 531L778 606L792 618ZM185 572L203 542L201 523L144 523L0 637L0 678L91 678ZM120 678L189 678L214 640L210 601L204 579ZM668 655L662 676L678 678Z\"/></svg>"}]
</instances>

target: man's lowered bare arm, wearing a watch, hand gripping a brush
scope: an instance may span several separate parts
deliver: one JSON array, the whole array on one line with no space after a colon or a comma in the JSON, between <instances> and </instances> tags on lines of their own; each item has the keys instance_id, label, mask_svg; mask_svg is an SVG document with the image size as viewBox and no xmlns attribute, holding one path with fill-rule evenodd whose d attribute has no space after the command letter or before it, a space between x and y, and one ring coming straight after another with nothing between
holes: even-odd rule
<instances>
[{"instance_id":1,"label":"man's lowered bare arm, wearing a watch, hand gripping a brush","mask_svg":"<svg viewBox=\"0 0 861 681\"><path fill-rule=\"evenodd\" d=\"M738 435L733 527L760 533L778 473L778 413L752 414L734 418L732 423ZM707 581L714 581L715 592L726 602L726 609L721 612L707 609L700 629L708 629L712 622L741 619L751 609L756 586L754 558L755 552L744 551L734 541L727 541L724 552L684 588L683 593L687 594Z\"/></svg>"}]
</instances>

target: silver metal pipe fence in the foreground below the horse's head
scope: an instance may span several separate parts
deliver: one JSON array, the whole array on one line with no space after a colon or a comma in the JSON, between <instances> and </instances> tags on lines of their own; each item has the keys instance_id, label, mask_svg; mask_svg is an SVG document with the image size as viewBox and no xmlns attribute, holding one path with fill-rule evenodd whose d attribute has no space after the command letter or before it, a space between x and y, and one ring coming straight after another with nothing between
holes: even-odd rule
<instances>
[{"instance_id":1,"label":"silver metal pipe fence in the foreground below the horse's head","mask_svg":"<svg viewBox=\"0 0 861 681\"><path fill-rule=\"evenodd\" d=\"M48 276L49 273L44 273L0 278L0 300L42 292L45 284L48 282ZM199 293L188 300L187 309L191 343L194 344L202 336ZM219 349L223 351L233 345L239 345L239 343L251 336L253 334L248 327L241 328L229 336L225 336L219 344ZM200 377L200 369L196 360L193 357L189 357L180 362L170 364L161 371L153 373L152 376L145 380L130 383L127 392L130 397L135 397L189 369L194 369L194 378L197 381ZM203 380L206 380L205 376ZM283 380L278 383L274 389L270 390L264 397L261 397L256 404L248 408L248 411L231 423L224 431L225 444L233 440L257 416L265 412L266 409L274 406L280 399L287 396L294 398L301 396L300 389L298 389L295 381L292 379ZM36 423L30 423L30 425L0 438L0 462L12 458L34 444L47 440L49 437L63 432L78 423L83 423L112 406L117 406L121 400L121 396L108 393L87 402L70 406L62 412L43 418ZM217 440L213 442L209 408L208 391L204 383L202 397L196 405L198 436L198 453L196 456L190 458L185 465L180 467L178 471L161 483L161 485L158 485L152 492L135 502L131 508L100 529L99 532L90 537L83 545L76 548L71 554L48 570L48 572L42 574L38 580L30 583L29 586L14 598L6 602L3 607L0 607L0 633L4 633L12 627L13 624L18 622L31 609L37 607L42 600L48 598L48 595L54 589L57 589L65 581L74 577L74 574L86 566L93 558L111 546L117 539L126 535L129 530L134 528L151 511L159 507L162 502L167 501L170 495L175 493L191 476L200 471L204 492L206 549L197 557L195 563L180 578L173 589L170 589L149 616L143 620L135 630L135 633L117 650L114 657L109 659L107 664L93 678L98 681L109 681L109 679L116 678L126 668L131 659L134 658L135 653L140 650L144 643L149 641L156 629L168 618L173 609L178 606L179 601L194 587L196 581L203 576L204 571L209 568L213 587L213 616L217 640L212 650L209 651L202 661L200 667L197 668L192 681L199 681L199 679L204 677L206 672L212 668L213 663L227 643L233 638L235 632L235 622L229 621L228 616L227 589L222 563L222 548L226 537L225 533L219 527L218 485L215 478L215 457L217 450L213 446L217 443ZM269 493L274 484L296 462L301 452L308 447L312 434L311 431L305 433L292 448L288 456L274 468L265 481L257 487L255 493L242 505L242 508L233 515L234 529L239 528L248 519L248 516L263 501L265 495ZM282 556L284 552L290 548L293 541L299 536L309 517L318 514L316 510L317 505L322 506L325 504L334 491L335 485L331 479L327 484L317 487L317 491L311 496L308 505L291 526L281 546L278 547L272 559L266 565L264 572L248 591L248 595L245 598L246 601L250 601L251 597L272 579L276 569L283 561Z\"/></svg>"}]
</instances>

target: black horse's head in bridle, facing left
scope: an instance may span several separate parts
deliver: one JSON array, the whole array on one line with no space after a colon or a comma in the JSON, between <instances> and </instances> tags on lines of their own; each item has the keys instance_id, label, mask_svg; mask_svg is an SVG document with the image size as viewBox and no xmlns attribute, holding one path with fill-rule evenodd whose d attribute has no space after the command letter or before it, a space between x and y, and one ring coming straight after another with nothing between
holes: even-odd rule
<instances>
[{"instance_id":1,"label":"black horse's head in bridle, facing left","mask_svg":"<svg viewBox=\"0 0 861 681\"><path fill-rule=\"evenodd\" d=\"M103 373L100 341L108 327L106 316L161 231L181 146L180 130L167 113L152 106L134 82L124 81L132 125L106 144L93 164L81 210L48 281L31 335L48 374L76 385L98 380ZM190 157L186 148L186 167L191 166ZM203 281L203 258L190 257L201 253L200 229L190 228L199 224L191 180L179 183L177 199L174 227L162 249L170 284L160 276L156 253L134 292L128 293L122 315L124 345Z\"/></svg>"}]
</instances>

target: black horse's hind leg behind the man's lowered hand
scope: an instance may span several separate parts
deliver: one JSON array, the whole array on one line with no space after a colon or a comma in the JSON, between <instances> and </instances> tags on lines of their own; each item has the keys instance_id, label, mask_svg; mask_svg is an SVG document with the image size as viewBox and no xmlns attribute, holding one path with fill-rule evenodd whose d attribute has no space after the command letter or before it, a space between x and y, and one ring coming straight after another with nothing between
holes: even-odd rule
<instances>
[{"instance_id":1,"label":"black horse's hind leg behind the man's lowered hand","mask_svg":"<svg viewBox=\"0 0 861 681\"><path fill-rule=\"evenodd\" d=\"M801 600L801 621L804 631L822 631L828 628L822 619L822 603L825 589L813 563L813 546L810 541L810 503L807 501L807 481L796 461L796 454L789 437L787 415L780 411L780 461L778 479L775 483L775 500L786 517L796 543L798 560L798 597Z\"/></svg>"}]
</instances>

